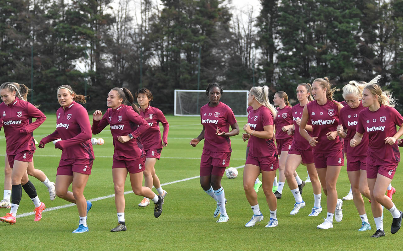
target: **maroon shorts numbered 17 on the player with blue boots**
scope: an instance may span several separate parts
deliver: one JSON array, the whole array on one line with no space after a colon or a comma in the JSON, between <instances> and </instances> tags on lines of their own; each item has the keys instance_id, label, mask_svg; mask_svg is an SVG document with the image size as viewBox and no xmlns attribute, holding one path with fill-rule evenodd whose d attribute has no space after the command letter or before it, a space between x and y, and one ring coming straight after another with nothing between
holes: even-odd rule
<instances>
[{"instance_id":1,"label":"maroon shorts numbered 17 on the player with blue boots","mask_svg":"<svg viewBox=\"0 0 403 251\"><path fill-rule=\"evenodd\" d=\"M74 160L63 160L60 159L59 167L56 171L57 175L69 175L73 176L75 173L91 174L93 159L74 159Z\"/></svg>"}]
</instances>

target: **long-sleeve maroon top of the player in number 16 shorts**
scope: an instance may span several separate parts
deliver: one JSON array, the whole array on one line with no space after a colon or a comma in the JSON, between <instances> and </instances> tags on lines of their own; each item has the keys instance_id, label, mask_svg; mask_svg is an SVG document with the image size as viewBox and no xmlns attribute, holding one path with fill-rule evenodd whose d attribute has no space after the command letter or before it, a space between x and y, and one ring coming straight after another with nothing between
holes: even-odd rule
<instances>
[{"instance_id":1,"label":"long-sleeve maroon top of the player in number 16 shorts","mask_svg":"<svg viewBox=\"0 0 403 251\"><path fill-rule=\"evenodd\" d=\"M138 159L144 155L144 147L141 144L139 136L144 133L150 126L142 116L137 114L131 106L121 105L116 109L109 108L106 110L101 120L92 121L92 133L100 133L107 125L110 125L110 133L113 137L113 146L115 151L113 157L118 160ZM119 136L133 135L133 139L120 143Z\"/></svg>"}]
</instances>

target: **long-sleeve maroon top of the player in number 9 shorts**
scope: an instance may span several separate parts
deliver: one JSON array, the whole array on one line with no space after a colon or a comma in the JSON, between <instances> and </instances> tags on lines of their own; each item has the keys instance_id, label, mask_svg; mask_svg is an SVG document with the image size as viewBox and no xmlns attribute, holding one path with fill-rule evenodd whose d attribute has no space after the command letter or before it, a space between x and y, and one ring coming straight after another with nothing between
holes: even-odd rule
<instances>
[{"instance_id":1,"label":"long-sleeve maroon top of the player in number 9 shorts","mask_svg":"<svg viewBox=\"0 0 403 251\"><path fill-rule=\"evenodd\" d=\"M32 132L46 120L45 114L31 103L15 98L11 104L0 104L7 155L35 150ZM32 118L36 118L32 122Z\"/></svg>"}]
</instances>

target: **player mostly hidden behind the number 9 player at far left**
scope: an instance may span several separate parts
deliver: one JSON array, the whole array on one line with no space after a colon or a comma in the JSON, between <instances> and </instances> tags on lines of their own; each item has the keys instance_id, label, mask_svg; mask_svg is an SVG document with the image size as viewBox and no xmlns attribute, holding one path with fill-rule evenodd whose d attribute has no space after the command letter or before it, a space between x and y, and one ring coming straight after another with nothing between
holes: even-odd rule
<instances>
[{"instance_id":1,"label":"player mostly hidden behind the number 9 player at far left","mask_svg":"<svg viewBox=\"0 0 403 251\"><path fill-rule=\"evenodd\" d=\"M16 82L10 82L10 84L14 85L16 89L19 91L21 98L23 101L27 101L27 96L29 93L29 89L24 84L18 84ZM37 107L37 106L36 106ZM5 157L5 165L4 165L4 195L3 200L0 201L0 208L10 208L11 207L11 171L10 164L7 160L7 154ZM39 169L35 169L33 167L33 161L29 162L27 168L28 175L31 175L37 178L40 182L42 182L47 188L50 196L50 200L54 200L56 198L55 192L55 184L51 182L48 177L46 177L45 173Z\"/></svg>"}]
</instances>

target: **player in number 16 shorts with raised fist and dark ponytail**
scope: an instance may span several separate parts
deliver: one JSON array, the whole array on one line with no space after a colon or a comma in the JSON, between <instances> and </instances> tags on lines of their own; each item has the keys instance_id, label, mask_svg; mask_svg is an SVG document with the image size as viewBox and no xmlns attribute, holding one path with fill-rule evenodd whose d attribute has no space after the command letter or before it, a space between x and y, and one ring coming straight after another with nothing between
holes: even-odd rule
<instances>
[{"instance_id":1,"label":"player in number 16 shorts with raised fist and dark ponytail","mask_svg":"<svg viewBox=\"0 0 403 251\"><path fill-rule=\"evenodd\" d=\"M129 101L130 106L125 105ZM125 181L130 173L130 183L136 195L151 199L154 204L154 216L162 213L164 198L147 186L143 186L145 152L139 136L150 127L139 115L139 108L133 104L133 95L127 88L112 88L108 93L104 116L100 110L93 113L92 133L100 133L108 124L115 147L113 153L112 179L115 189L115 204L118 225L111 232L126 231L125 223Z\"/></svg>"}]
</instances>

